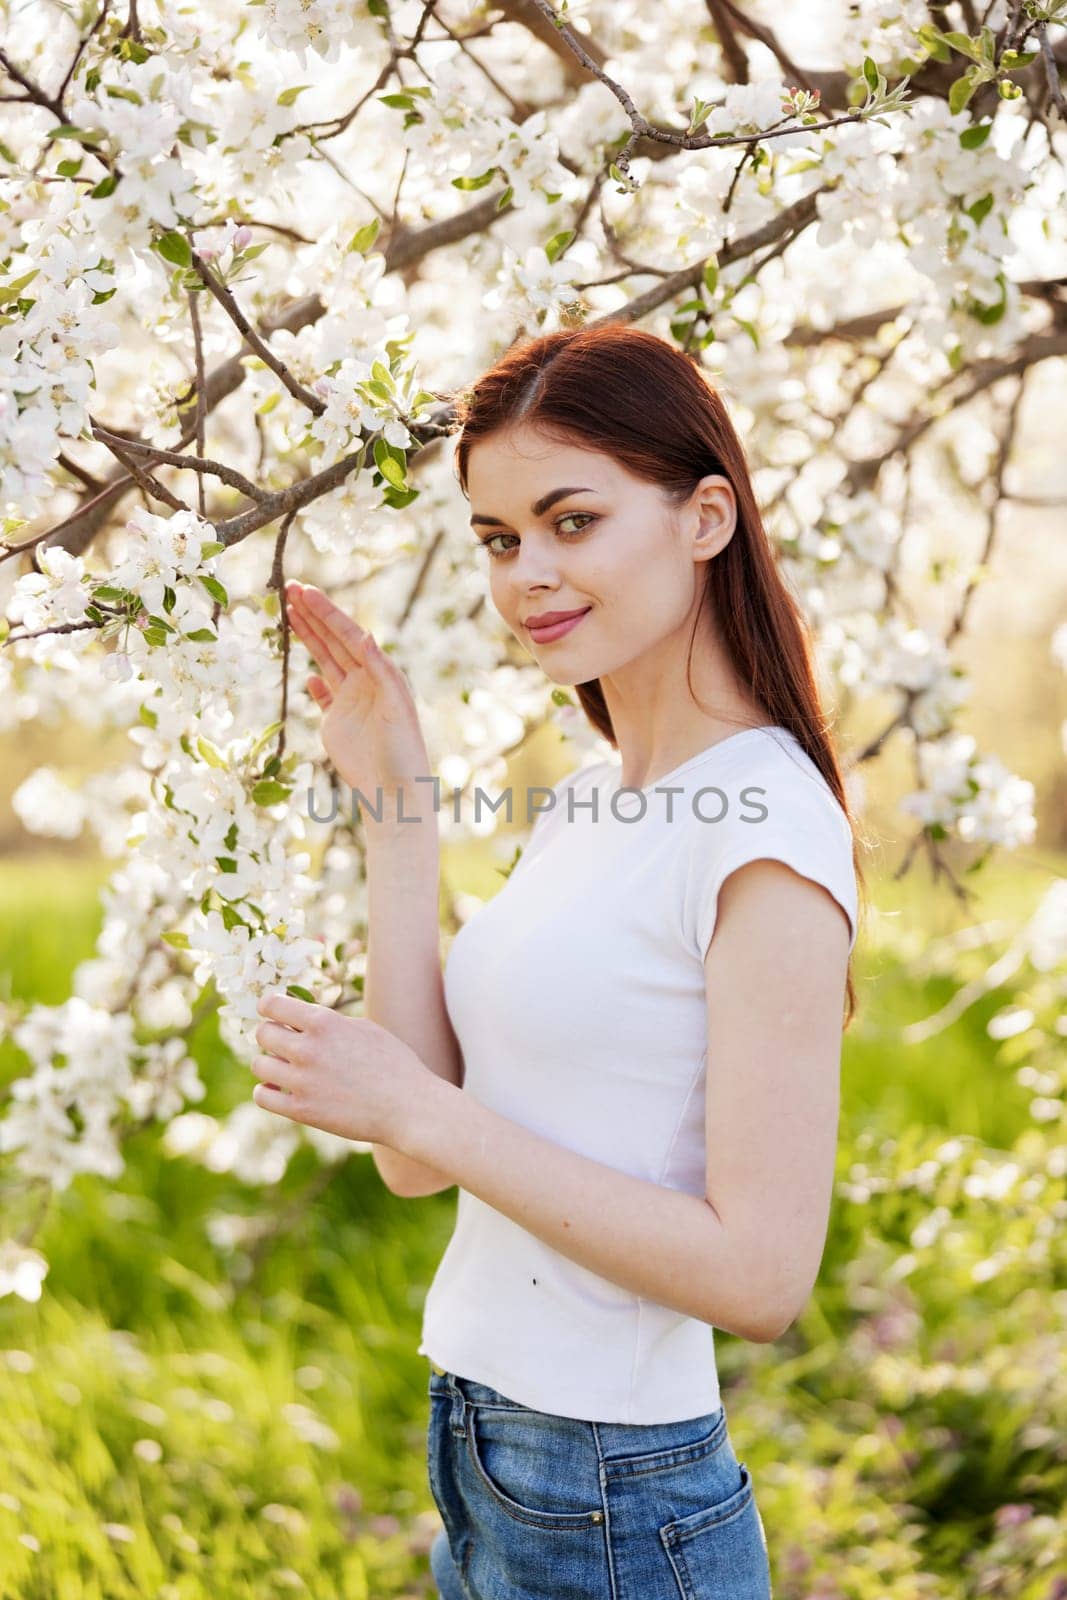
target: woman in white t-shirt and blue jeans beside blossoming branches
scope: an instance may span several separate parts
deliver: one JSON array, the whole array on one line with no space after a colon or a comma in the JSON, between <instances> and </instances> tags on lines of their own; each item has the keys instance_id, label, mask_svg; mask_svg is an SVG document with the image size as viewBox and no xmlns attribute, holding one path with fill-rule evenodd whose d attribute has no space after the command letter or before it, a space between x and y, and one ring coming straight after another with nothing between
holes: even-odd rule
<instances>
[{"instance_id":1,"label":"woman in white t-shirt and blue jeans beside blossoming branches","mask_svg":"<svg viewBox=\"0 0 1067 1600\"><path fill-rule=\"evenodd\" d=\"M515 344L459 426L493 603L621 760L555 786L443 978L406 683L290 586L326 750L405 813L366 822L360 1067L285 997L259 1067L386 1130L395 1194L459 1186L419 1346L442 1600L765 1600L712 1330L777 1338L819 1270L861 882L803 619L720 397L654 334Z\"/></svg>"}]
</instances>

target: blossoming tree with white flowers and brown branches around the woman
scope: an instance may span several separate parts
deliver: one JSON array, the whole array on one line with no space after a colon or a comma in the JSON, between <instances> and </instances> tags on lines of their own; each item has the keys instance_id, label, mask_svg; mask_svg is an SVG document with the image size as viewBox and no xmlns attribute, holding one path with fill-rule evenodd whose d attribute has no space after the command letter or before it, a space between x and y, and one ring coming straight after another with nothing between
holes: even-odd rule
<instances>
[{"instance_id":1,"label":"blossoming tree with white flowers and brown branches around the woman","mask_svg":"<svg viewBox=\"0 0 1067 1600\"><path fill-rule=\"evenodd\" d=\"M827 680L893 707L843 752L856 805L902 741L909 862L963 893L947 842L977 864L1033 837L1032 786L957 726L957 646L1027 376L1067 355L1067 5L822 21L833 67L766 0L0 3L0 730L74 712L131 746L16 794L115 867L72 997L8 1008L10 1190L115 1176L154 1120L253 1184L352 1149L192 1109L205 1014L250 1058L266 989L362 995L363 842L309 816L331 773L286 578L386 635L458 795L445 837L491 832L472 790L547 720L606 754L486 605L451 472L453 398L517 334L640 322L697 358ZM947 626L909 603L931 579ZM1054 1136L1062 883L1016 949ZM32 1237L0 1238L0 1293L40 1294Z\"/></svg>"}]
</instances>

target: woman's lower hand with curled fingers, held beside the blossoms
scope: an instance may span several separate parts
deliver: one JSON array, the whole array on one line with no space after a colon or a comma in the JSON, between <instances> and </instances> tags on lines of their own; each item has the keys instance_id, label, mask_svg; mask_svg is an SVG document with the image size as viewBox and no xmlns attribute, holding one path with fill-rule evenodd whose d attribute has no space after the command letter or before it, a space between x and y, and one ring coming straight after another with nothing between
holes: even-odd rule
<instances>
[{"instance_id":1,"label":"woman's lower hand with curled fingers, held beside the blossoms","mask_svg":"<svg viewBox=\"0 0 1067 1600\"><path fill-rule=\"evenodd\" d=\"M256 1106L344 1139L402 1149L430 1077L410 1045L378 1022L296 995L261 995L256 1010L267 1018L256 1027L266 1054L251 1064L261 1078Z\"/></svg>"}]
</instances>

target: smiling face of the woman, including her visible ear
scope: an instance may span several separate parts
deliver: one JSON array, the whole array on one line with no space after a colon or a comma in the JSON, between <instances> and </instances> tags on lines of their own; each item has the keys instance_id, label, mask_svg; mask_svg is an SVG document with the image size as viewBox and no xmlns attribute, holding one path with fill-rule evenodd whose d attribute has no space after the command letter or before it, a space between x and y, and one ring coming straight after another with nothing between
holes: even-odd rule
<instances>
[{"instance_id":1,"label":"smiling face of the woman, including her visible ear","mask_svg":"<svg viewBox=\"0 0 1067 1600\"><path fill-rule=\"evenodd\" d=\"M685 654L704 562L734 525L726 478L702 478L678 510L613 456L517 426L470 448L467 493L493 605L555 683ZM585 614L555 637L531 630L553 611Z\"/></svg>"}]
</instances>

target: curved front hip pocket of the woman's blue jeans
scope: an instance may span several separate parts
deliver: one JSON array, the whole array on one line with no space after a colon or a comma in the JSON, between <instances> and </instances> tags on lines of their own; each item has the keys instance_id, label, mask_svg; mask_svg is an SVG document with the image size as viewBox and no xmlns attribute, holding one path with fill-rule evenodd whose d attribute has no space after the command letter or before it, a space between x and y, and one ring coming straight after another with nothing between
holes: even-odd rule
<instances>
[{"instance_id":1,"label":"curved front hip pocket of the woman's blue jeans","mask_svg":"<svg viewBox=\"0 0 1067 1600\"><path fill-rule=\"evenodd\" d=\"M469 1405L469 1456L493 1504L515 1522L560 1533L603 1523L603 1506L593 1504L593 1446L589 1440L582 1451L581 1427L547 1411Z\"/></svg>"}]
</instances>

